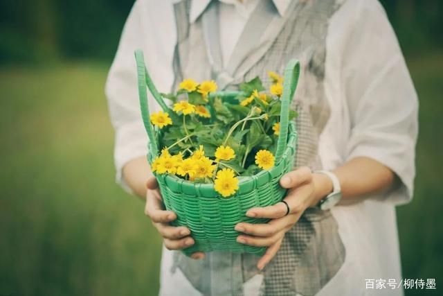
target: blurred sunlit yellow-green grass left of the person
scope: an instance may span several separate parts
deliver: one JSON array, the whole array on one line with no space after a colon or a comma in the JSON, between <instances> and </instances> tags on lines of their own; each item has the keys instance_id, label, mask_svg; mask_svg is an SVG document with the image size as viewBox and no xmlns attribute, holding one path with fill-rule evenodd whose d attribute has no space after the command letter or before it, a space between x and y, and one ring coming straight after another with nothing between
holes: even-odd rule
<instances>
[{"instance_id":1,"label":"blurred sunlit yellow-green grass left of the person","mask_svg":"<svg viewBox=\"0 0 443 296\"><path fill-rule=\"evenodd\" d=\"M161 241L114 184L106 72L0 73L0 295L156 295Z\"/></svg>"}]
</instances>

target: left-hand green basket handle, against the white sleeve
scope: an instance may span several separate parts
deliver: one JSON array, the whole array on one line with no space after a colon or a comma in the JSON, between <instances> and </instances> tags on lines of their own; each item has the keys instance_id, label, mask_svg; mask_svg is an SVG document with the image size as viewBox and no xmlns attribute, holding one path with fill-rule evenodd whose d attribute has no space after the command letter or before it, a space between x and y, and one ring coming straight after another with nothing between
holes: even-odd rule
<instances>
[{"instance_id":1,"label":"left-hand green basket handle, against the white sleeve","mask_svg":"<svg viewBox=\"0 0 443 296\"><path fill-rule=\"evenodd\" d=\"M162 109L165 110L165 112L168 111L168 106L165 104L165 102L163 102L161 95L155 88L154 83L147 73L143 51L141 51L141 49L137 49L134 52L134 55L136 56L137 64L138 98L140 99L141 117L143 119L143 125L145 125L147 137L150 139L149 148L151 151L151 155L158 155L159 147L157 146L157 141L154 134L154 127L152 126L152 123L150 121L150 107L147 103L146 87L150 89L152 96L154 96L155 100L161 105Z\"/></svg>"}]
</instances>

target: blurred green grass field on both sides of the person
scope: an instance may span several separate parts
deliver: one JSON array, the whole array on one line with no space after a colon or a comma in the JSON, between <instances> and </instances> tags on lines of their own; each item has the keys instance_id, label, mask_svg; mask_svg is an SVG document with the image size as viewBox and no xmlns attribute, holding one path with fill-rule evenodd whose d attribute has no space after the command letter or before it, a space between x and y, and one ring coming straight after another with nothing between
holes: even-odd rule
<instances>
[{"instance_id":1,"label":"blurred green grass field on both sides of the person","mask_svg":"<svg viewBox=\"0 0 443 296\"><path fill-rule=\"evenodd\" d=\"M441 290L443 55L408 64L420 136L415 200L398 209L404 277L435 278ZM0 295L157 293L161 241L143 204L114 184L106 73L0 69Z\"/></svg>"}]
</instances>

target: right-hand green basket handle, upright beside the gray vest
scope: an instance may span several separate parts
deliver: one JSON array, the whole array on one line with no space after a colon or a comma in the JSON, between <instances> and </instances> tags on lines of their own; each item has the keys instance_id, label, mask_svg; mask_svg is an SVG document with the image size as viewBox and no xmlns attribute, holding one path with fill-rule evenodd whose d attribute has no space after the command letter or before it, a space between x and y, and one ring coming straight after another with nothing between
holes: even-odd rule
<instances>
[{"instance_id":1,"label":"right-hand green basket handle, upright beside the gray vest","mask_svg":"<svg viewBox=\"0 0 443 296\"><path fill-rule=\"evenodd\" d=\"M287 146L289 107L291 105L293 95L296 92L299 76L300 62L298 62L296 59L292 59L287 64L286 69L284 69L282 107L280 110L280 134L277 141L277 150L275 151L276 164L282 160L284 150Z\"/></svg>"}]
</instances>

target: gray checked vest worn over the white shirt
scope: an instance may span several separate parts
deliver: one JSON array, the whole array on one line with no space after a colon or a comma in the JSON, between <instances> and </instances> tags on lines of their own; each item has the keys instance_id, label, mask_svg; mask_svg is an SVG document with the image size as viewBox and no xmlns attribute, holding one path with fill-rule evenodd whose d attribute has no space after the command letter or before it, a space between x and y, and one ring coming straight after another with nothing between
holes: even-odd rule
<instances>
[{"instance_id":1,"label":"gray checked vest worn over the white shirt","mask_svg":"<svg viewBox=\"0 0 443 296\"><path fill-rule=\"evenodd\" d=\"M329 18L337 8L334 0L291 1L282 17L270 0L261 0L245 26L232 58L221 60L218 35L218 1L212 1L193 24L190 0L174 5L177 47L174 55L174 89L183 78L214 79L219 87L235 88L244 80L267 71L283 73L291 58L302 70L293 109L299 116L296 166L320 168L318 137L329 118L325 98L325 37ZM226 64L226 67L223 66ZM327 243L325 243L327 242ZM259 273L259 257L252 254L213 252L195 261L181 252L174 254L190 283L204 295L243 295L243 283ZM314 295L343 264L345 249L336 220L329 211L307 209L287 232L274 259L266 266L261 295Z\"/></svg>"}]
</instances>

